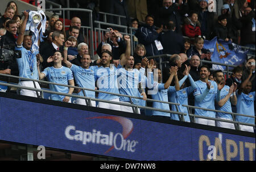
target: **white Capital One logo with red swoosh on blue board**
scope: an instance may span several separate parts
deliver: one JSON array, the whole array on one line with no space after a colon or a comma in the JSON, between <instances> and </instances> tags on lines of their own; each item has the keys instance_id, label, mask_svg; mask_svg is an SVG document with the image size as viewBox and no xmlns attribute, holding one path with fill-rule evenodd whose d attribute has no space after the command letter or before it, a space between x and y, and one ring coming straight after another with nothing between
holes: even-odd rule
<instances>
[{"instance_id":1,"label":"white Capital One logo with red swoosh on blue board","mask_svg":"<svg viewBox=\"0 0 256 172\"><path fill-rule=\"evenodd\" d=\"M92 131L77 130L75 126L69 125L65 128L65 136L69 140L81 141L82 144L101 144L108 145L110 148L104 154L116 149L118 151L135 152L138 141L129 140L127 137L133 132L133 122L125 117L101 116L86 119L105 119L115 121L122 126L122 132L102 134L100 130ZM101 121L99 121L101 122Z\"/></svg>"}]
</instances>

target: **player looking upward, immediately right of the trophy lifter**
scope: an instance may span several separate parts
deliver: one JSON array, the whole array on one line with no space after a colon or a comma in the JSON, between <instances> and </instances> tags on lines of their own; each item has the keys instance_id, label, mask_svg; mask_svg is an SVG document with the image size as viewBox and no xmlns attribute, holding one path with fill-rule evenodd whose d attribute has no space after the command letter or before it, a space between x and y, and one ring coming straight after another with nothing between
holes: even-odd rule
<instances>
[{"instance_id":1,"label":"player looking upward, immediately right of the trophy lifter","mask_svg":"<svg viewBox=\"0 0 256 172\"><path fill-rule=\"evenodd\" d=\"M51 83L65 84L75 86L72 71L68 67L61 65L63 61L63 55L60 51L56 51L53 56L49 57L48 62L53 62L53 66L47 67L43 72L40 72L38 63L38 73L39 79L47 77L47 80ZM49 84L50 90L54 92L72 94L74 88L65 87L55 84ZM70 102L71 98L69 96L62 96L59 94L51 94L51 100Z\"/></svg>"}]
</instances>

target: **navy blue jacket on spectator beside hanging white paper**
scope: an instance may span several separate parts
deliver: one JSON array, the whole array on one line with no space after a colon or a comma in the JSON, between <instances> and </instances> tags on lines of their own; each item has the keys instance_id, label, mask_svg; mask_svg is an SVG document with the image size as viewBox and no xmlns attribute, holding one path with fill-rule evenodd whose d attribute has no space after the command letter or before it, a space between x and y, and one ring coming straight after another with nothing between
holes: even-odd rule
<instances>
[{"instance_id":1,"label":"navy blue jacket on spectator beside hanging white paper","mask_svg":"<svg viewBox=\"0 0 256 172\"><path fill-rule=\"evenodd\" d=\"M143 44L146 49L146 56L154 56L162 54L162 50L158 50L155 45L155 40L158 40L159 33L156 32L155 26L142 25L135 33L138 38L139 44Z\"/></svg>"}]
</instances>

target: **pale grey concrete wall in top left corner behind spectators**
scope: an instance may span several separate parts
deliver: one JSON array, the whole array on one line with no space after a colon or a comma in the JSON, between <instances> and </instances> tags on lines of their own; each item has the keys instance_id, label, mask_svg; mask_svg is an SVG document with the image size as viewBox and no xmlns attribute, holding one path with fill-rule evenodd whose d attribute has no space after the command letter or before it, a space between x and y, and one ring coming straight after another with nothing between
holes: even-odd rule
<instances>
[{"instance_id":1,"label":"pale grey concrete wall in top left corner behind spectators","mask_svg":"<svg viewBox=\"0 0 256 172\"><path fill-rule=\"evenodd\" d=\"M5 13L5 8L7 6L7 3L11 1L11 0L1 0L0 2L0 12L3 15ZM26 3L20 0L12 0L14 1L17 6L18 6L18 10L19 10L19 14L22 14L22 11L25 10L32 10L32 11L38 11L38 8L36 6L31 5L30 3ZM44 14L46 14L47 16L51 16L53 13L52 12L44 12Z\"/></svg>"}]
</instances>

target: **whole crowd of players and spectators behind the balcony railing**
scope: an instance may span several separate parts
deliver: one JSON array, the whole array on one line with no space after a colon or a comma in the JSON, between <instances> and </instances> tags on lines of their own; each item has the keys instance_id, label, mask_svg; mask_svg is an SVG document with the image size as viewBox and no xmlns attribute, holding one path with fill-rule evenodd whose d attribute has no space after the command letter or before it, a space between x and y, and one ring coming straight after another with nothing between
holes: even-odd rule
<instances>
[{"instance_id":1,"label":"whole crowd of players and spectators behind the balcony railing","mask_svg":"<svg viewBox=\"0 0 256 172\"><path fill-rule=\"evenodd\" d=\"M85 4L86 7L96 10L98 5L107 1L100 2L86 1ZM10 1L0 18L0 45L1 48L20 51L20 57L13 62L1 61L0 73L30 79L46 78L53 83L141 97L130 100L126 96L77 91L80 96L147 105L163 110L179 110L187 114L185 122L190 122L191 119L187 109L181 105L255 117L255 58L247 58L245 65L235 67L230 78L226 78L222 71L210 70L212 64L200 63L202 59L211 61L212 54L203 48L205 39L210 40L217 36L224 41L255 48L255 1L248 3L246 0L227 0L221 7L221 15L217 16L215 12L208 10L208 0L163 0L158 12L154 15L144 15L144 21L141 18L142 11L137 12L139 19L130 20L129 10L135 1L128 2L110 1L108 6L111 5L111 8L108 10L113 14L126 16L121 24L134 28L134 42L131 42L130 36L122 35L121 31L115 28L109 28L98 44L98 59L92 61L94 58L90 57L88 47L92 42L87 42L87 36L81 32L83 19L79 15L73 14L67 31L59 16L46 16L46 26L43 26L46 27L46 37L44 41L39 39L39 49L32 51L32 34L25 31L28 12L23 11L22 17L18 13L16 3ZM139 11L138 8L135 8L136 10ZM114 19L109 21L115 23ZM132 53L131 45L135 45ZM169 63L162 70L158 59L147 58L160 54L171 54L171 57L166 59ZM157 80L153 79L154 69L158 69ZM35 87L32 81L19 80L19 85ZM36 88L40 88L39 83L36 83ZM67 94L74 92L71 87L53 84L50 84L49 88ZM19 94L38 97L35 91L24 89L19 90ZM69 96L52 94L50 98L71 102ZM175 102L180 106L169 106L159 102L148 104L147 98ZM77 104L88 105L88 101L81 99ZM133 108L129 106L94 101L91 104L99 108L134 113ZM180 120L176 114L160 111L140 109L135 113ZM254 118L239 116L233 119L228 113L214 113L201 109L195 109L194 113L205 117L255 123ZM232 123L214 122L204 118L196 118L195 122L234 128ZM241 130L244 131L254 132L254 129L241 125Z\"/></svg>"}]
</instances>

